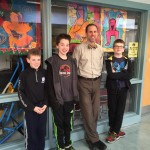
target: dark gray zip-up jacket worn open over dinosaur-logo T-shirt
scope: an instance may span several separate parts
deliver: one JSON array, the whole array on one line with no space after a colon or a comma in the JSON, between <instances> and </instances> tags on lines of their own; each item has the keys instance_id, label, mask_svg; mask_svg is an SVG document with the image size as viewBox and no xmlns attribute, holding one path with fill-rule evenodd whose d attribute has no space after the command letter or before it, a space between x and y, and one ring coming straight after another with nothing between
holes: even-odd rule
<instances>
[{"instance_id":1,"label":"dark gray zip-up jacket worn open over dinosaur-logo T-shirt","mask_svg":"<svg viewBox=\"0 0 150 150\"><path fill-rule=\"evenodd\" d=\"M52 57L48 58L45 63L47 64L47 70L46 70L46 90L48 95L48 103L49 106L52 108L57 108L59 105L64 104L64 100L61 96L61 83L60 83L60 77L58 74L59 70L59 56L53 55ZM68 56L68 59L72 62L72 80L73 80L73 100L78 101L79 100L79 94L77 90L77 67L76 62L73 58Z\"/></svg>"}]
</instances>

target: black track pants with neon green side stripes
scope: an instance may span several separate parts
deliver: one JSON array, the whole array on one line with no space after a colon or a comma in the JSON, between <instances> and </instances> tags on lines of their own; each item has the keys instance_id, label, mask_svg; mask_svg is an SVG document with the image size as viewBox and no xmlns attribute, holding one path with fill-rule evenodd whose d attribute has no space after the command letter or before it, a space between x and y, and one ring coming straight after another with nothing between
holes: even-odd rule
<instances>
[{"instance_id":1,"label":"black track pants with neon green side stripes","mask_svg":"<svg viewBox=\"0 0 150 150\"><path fill-rule=\"evenodd\" d=\"M73 101L71 101L60 105L59 109L53 109L54 134L58 148L64 148L72 143L70 136L72 130L73 106Z\"/></svg>"}]
</instances>

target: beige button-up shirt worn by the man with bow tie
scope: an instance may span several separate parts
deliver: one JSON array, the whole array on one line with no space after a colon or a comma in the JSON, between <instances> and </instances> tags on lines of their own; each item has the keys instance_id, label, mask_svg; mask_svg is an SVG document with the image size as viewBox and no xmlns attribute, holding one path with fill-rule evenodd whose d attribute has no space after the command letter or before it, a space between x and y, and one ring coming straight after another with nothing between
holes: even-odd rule
<instances>
[{"instance_id":1,"label":"beige button-up shirt worn by the man with bow tie","mask_svg":"<svg viewBox=\"0 0 150 150\"><path fill-rule=\"evenodd\" d=\"M103 50L100 45L97 48L88 49L88 42L79 44L73 53L77 61L77 72L85 78L96 78L101 75L103 67Z\"/></svg>"}]
</instances>

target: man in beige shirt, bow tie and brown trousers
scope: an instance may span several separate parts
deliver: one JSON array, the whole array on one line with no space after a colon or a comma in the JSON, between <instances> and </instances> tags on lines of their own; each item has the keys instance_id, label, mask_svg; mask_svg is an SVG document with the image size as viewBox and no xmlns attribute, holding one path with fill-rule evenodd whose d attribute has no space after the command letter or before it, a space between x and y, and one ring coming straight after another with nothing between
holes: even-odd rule
<instances>
[{"instance_id":1,"label":"man in beige shirt, bow tie and brown trousers","mask_svg":"<svg viewBox=\"0 0 150 150\"><path fill-rule=\"evenodd\" d=\"M103 50L96 44L98 29L95 24L86 26L87 42L79 44L73 53L77 61L80 107L85 128L85 139L90 150L105 150L99 140L97 120L100 107L100 76L103 67Z\"/></svg>"}]
</instances>

